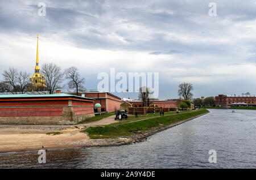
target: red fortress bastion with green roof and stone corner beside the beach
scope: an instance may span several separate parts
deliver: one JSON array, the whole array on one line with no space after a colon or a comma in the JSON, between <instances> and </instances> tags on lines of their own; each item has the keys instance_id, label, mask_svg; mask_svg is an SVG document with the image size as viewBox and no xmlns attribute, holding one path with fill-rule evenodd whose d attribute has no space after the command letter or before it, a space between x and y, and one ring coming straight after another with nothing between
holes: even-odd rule
<instances>
[{"instance_id":1,"label":"red fortress bastion with green roof and stone corner beside the beach","mask_svg":"<svg viewBox=\"0 0 256 180\"><path fill-rule=\"evenodd\" d=\"M93 117L93 99L54 95L1 95L1 124L73 125Z\"/></svg>"}]
</instances>

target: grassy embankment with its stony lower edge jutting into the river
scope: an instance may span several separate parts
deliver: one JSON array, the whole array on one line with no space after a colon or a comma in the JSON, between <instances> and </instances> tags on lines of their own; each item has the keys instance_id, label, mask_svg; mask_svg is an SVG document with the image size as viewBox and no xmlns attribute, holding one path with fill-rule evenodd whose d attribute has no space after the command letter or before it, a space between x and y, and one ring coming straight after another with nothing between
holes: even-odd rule
<instances>
[{"instance_id":1,"label":"grassy embankment with its stony lower edge jutting into the river","mask_svg":"<svg viewBox=\"0 0 256 180\"><path fill-rule=\"evenodd\" d=\"M90 127L81 132L88 134L93 142L93 146L130 144L142 141L156 132L180 125L207 113L209 113L208 110L200 109L193 112L151 118L123 125Z\"/></svg>"}]
</instances>

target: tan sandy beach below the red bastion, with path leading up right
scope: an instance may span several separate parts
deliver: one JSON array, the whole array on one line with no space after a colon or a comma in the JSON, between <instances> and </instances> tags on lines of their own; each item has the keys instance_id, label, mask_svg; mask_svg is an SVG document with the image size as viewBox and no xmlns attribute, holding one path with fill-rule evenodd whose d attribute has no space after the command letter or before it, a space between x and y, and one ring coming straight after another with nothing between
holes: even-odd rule
<instances>
[{"instance_id":1,"label":"tan sandy beach below the red bastion, with path leading up right","mask_svg":"<svg viewBox=\"0 0 256 180\"><path fill-rule=\"evenodd\" d=\"M91 146L92 140L81 130L116 122L114 116L81 125L0 125L0 153ZM61 132L47 135L47 132Z\"/></svg>"}]
</instances>

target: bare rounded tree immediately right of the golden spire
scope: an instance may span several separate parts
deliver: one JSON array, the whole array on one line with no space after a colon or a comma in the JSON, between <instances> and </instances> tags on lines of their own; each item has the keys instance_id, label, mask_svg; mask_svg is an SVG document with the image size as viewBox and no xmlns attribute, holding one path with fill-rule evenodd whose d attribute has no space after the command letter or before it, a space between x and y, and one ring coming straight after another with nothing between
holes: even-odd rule
<instances>
[{"instance_id":1,"label":"bare rounded tree immediately right of the golden spire","mask_svg":"<svg viewBox=\"0 0 256 180\"><path fill-rule=\"evenodd\" d=\"M57 88L60 88L64 76L60 66L53 63L46 63L43 64L41 72L44 75L44 80L46 80L46 87L49 94L52 94Z\"/></svg>"}]
</instances>

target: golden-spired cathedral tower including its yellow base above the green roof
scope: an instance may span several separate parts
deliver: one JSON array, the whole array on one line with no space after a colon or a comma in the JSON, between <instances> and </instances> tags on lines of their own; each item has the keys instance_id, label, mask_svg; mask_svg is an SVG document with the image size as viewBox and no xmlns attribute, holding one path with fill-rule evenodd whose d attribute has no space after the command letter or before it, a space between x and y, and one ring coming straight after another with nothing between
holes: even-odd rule
<instances>
[{"instance_id":1,"label":"golden-spired cathedral tower including its yellow base above the green roof","mask_svg":"<svg viewBox=\"0 0 256 180\"><path fill-rule=\"evenodd\" d=\"M44 91L45 89L46 81L44 80L44 75L40 74L37 43L35 73L32 77L30 77L30 85L28 86L28 91Z\"/></svg>"}]
</instances>

